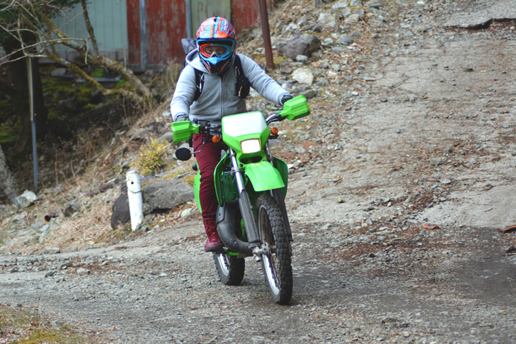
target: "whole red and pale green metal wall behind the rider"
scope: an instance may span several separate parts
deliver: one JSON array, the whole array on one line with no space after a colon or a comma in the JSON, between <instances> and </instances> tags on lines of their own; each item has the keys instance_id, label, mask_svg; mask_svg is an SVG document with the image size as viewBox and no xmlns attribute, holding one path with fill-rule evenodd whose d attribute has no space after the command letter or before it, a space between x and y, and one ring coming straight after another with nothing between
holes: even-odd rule
<instances>
[{"instance_id":1,"label":"whole red and pale green metal wall behind the rider","mask_svg":"<svg viewBox=\"0 0 516 344\"><path fill-rule=\"evenodd\" d=\"M267 1L269 8L271 1ZM88 3L88 8L99 50L118 61L127 59L128 65L136 71L166 65L173 59L182 60L181 39L188 35L188 2L193 36L200 23L209 17L230 19L237 34L259 19L259 0L94 0ZM144 9L144 16L140 16L140 8ZM54 22L64 26L63 31L70 37L87 37L84 18L78 15L80 12L79 5ZM140 25L142 21L144 28ZM76 54L64 45L58 50L62 50L61 53L66 50L69 60Z\"/></svg>"}]
</instances>

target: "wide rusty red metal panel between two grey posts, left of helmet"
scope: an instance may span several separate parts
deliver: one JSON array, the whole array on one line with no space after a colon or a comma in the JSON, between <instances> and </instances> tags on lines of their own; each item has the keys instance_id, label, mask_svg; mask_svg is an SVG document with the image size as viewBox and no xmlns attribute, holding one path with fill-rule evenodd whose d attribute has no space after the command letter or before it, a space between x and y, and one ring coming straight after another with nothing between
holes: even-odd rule
<instances>
[{"instance_id":1,"label":"wide rusty red metal panel between two grey posts, left of helmet","mask_svg":"<svg viewBox=\"0 0 516 344\"><path fill-rule=\"evenodd\" d=\"M149 66L184 59L181 39L186 37L184 0L147 1L147 56Z\"/></svg>"}]
</instances>

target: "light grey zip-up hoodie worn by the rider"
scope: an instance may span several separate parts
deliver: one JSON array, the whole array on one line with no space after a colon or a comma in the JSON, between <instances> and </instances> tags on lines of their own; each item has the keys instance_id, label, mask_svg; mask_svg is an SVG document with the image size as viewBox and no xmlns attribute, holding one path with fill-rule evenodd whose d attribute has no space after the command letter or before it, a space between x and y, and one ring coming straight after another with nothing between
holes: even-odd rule
<instances>
[{"instance_id":1,"label":"light grey zip-up hoodie worn by the rider","mask_svg":"<svg viewBox=\"0 0 516 344\"><path fill-rule=\"evenodd\" d=\"M244 69L244 76L248 78L251 87L267 100L282 105L281 97L289 93L270 78L255 61L245 55L238 54L238 56ZM222 77L213 75L202 65L197 50L191 51L186 56L186 63L170 103L174 121L181 115L189 116L190 120L202 118L219 121L224 116L247 111L246 100L236 95L236 76L233 66L230 66ZM204 87L201 96L195 102L193 102L193 96L197 87L194 68L204 72Z\"/></svg>"}]
</instances>

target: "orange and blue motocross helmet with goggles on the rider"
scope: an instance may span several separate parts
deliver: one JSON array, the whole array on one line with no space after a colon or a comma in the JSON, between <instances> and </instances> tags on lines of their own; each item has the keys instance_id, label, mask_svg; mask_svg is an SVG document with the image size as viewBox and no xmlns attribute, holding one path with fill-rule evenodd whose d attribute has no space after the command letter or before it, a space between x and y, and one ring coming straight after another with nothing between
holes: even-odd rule
<instances>
[{"instance_id":1,"label":"orange and blue motocross helmet with goggles on the rider","mask_svg":"<svg viewBox=\"0 0 516 344\"><path fill-rule=\"evenodd\" d=\"M197 49L201 63L211 74L226 72L235 60L235 29L222 17L203 21L197 30Z\"/></svg>"}]
</instances>

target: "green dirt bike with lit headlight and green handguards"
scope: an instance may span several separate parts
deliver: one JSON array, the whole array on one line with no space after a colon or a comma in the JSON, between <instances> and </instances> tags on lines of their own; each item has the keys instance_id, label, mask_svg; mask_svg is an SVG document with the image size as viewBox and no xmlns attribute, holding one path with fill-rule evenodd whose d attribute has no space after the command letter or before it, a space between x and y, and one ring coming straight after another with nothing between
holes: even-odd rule
<instances>
[{"instance_id":1,"label":"green dirt bike with lit headlight and green handguards","mask_svg":"<svg viewBox=\"0 0 516 344\"><path fill-rule=\"evenodd\" d=\"M297 96L268 118L261 112L248 112L225 116L220 123L197 120L171 125L174 142L206 133L205 142L219 142L224 148L214 173L219 204L217 231L224 244L222 252L213 252L220 280L228 286L239 284L244 278L244 258L253 256L261 262L272 299L281 305L292 297L292 233L284 202L288 167L270 151L269 140L278 135L277 129L268 125L309 114L305 97ZM184 161L191 154L186 147L175 152ZM195 164L194 170L197 167ZM197 173L193 189L200 208L199 186Z\"/></svg>"}]
</instances>

